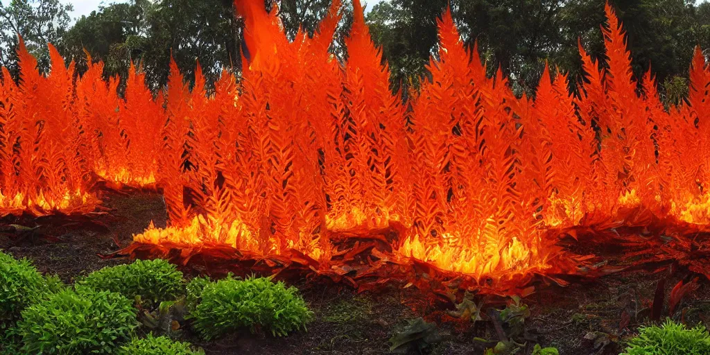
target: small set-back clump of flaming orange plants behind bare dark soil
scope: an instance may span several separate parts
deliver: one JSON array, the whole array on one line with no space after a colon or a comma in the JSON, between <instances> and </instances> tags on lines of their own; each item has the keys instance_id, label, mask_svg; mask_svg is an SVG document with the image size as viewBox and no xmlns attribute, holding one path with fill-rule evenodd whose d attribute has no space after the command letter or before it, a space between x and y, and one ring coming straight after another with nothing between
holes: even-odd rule
<instances>
[{"instance_id":1,"label":"small set-back clump of flaming orange plants behind bare dark soil","mask_svg":"<svg viewBox=\"0 0 710 355\"><path fill-rule=\"evenodd\" d=\"M131 62L124 97L119 78L102 80L103 63L92 62L77 80L78 116L87 128L94 173L111 185L151 187L158 174L160 130L165 125L162 97L146 87L145 75Z\"/></svg>"}]
</instances>

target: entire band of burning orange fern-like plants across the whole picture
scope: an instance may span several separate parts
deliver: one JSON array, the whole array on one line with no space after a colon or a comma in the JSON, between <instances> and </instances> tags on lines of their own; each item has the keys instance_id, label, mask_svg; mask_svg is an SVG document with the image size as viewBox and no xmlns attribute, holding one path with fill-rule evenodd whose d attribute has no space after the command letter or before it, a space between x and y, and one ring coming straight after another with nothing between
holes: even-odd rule
<instances>
[{"instance_id":1,"label":"entire band of burning orange fern-like plants across the whole picture","mask_svg":"<svg viewBox=\"0 0 710 355\"><path fill-rule=\"evenodd\" d=\"M157 95L131 66L119 95L102 63L75 80L50 45L43 76L21 43L21 78L4 70L0 92L0 213L92 211L98 177L163 193L169 225L127 253L219 249L343 277L425 267L506 289L577 272L584 257L558 242L578 230L710 223L705 58L696 51L687 103L665 109L652 73L633 77L611 6L606 58L580 43L584 80L546 66L534 99L515 97L501 70L486 75L447 11L430 80L406 101L359 1L346 62L328 51L339 0L293 41L278 9L236 7L249 58L209 93L199 63L190 89L171 62Z\"/></svg>"}]
</instances>

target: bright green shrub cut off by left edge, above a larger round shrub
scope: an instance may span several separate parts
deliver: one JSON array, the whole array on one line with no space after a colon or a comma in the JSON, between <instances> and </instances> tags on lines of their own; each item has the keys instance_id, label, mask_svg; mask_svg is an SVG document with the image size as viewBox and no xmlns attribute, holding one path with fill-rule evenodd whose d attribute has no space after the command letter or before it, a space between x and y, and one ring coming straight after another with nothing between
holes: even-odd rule
<instances>
[{"instance_id":1,"label":"bright green shrub cut off by left edge, above a larger round shrub","mask_svg":"<svg viewBox=\"0 0 710 355\"><path fill-rule=\"evenodd\" d=\"M0 332L13 327L28 305L63 287L58 278L43 277L26 259L0 252Z\"/></svg>"}]
</instances>

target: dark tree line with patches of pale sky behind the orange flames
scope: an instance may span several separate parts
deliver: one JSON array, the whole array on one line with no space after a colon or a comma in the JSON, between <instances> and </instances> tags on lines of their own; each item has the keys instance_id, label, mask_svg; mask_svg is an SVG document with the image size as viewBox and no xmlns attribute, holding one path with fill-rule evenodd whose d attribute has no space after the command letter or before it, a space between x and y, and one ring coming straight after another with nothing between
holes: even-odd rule
<instances>
[{"instance_id":1,"label":"dark tree line with patches of pale sky behind the orange flames","mask_svg":"<svg viewBox=\"0 0 710 355\"><path fill-rule=\"evenodd\" d=\"M271 6L271 0L266 0ZM343 40L351 23L346 3L332 52L346 58ZM376 3L376 1L370 1ZM534 94L545 60L579 80L577 39L594 56L603 53L599 24L603 0L451 0L454 21L466 40L477 40L488 70L501 66L516 94ZM312 32L330 0L276 1L291 38L299 26ZM389 0L368 6L366 21L373 39L391 66L393 89L417 87L425 65L436 53L435 18L449 0ZM612 1L628 31L628 44L638 74L650 63L667 104L687 92L692 50L710 48L710 3L694 0ZM222 67L241 66L243 23L232 0L131 0L106 4L89 16L70 18L71 5L60 0L11 0L0 4L0 59L16 75L16 33L20 33L40 70L48 69L46 43L87 67L84 49L106 63L104 75L126 77L131 60L141 62L153 89L168 79L170 54L187 77L199 58L208 82ZM710 55L710 52L704 52Z\"/></svg>"}]
</instances>

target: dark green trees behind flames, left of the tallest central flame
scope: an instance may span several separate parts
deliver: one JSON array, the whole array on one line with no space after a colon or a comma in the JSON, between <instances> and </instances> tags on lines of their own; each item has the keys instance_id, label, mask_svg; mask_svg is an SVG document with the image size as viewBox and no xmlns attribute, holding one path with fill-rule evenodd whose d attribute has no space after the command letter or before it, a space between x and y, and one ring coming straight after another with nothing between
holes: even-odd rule
<instances>
[{"instance_id":1,"label":"dark green trees behind flames, left of the tallest central flame","mask_svg":"<svg viewBox=\"0 0 710 355\"><path fill-rule=\"evenodd\" d=\"M168 80L170 55L192 80L197 60L212 82L222 67L239 67L241 21L231 0L131 0L82 16L67 33L65 55L85 67L86 48L104 60L104 75L125 77L140 62L153 89ZM84 62L82 62L84 61Z\"/></svg>"}]
</instances>

